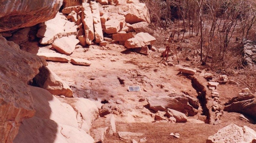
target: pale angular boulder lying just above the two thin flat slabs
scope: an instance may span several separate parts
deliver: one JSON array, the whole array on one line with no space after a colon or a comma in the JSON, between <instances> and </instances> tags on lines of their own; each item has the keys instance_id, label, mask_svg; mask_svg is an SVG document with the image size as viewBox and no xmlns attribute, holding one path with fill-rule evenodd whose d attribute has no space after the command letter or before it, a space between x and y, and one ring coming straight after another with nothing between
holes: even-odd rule
<instances>
[{"instance_id":1,"label":"pale angular boulder lying just above the two thin flat slabs","mask_svg":"<svg viewBox=\"0 0 256 143\"><path fill-rule=\"evenodd\" d=\"M74 49L76 49L76 44L78 43L79 43L79 40L76 39L75 37L65 36L55 40L52 43L52 47L62 54L70 55L72 54Z\"/></svg>"}]
</instances>

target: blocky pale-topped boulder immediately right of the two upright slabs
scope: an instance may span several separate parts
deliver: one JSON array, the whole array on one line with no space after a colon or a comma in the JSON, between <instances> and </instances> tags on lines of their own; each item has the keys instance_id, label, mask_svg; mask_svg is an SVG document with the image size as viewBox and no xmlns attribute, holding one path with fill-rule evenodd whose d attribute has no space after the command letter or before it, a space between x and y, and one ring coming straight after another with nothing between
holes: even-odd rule
<instances>
[{"instance_id":1,"label":"blocky pale-topped boulder immediately right of the two upright slabs","mask_svg":"<svg viewBox=\"0 0 256 143\"><path fill-rule=\"evenodd\" d=\"M105 22L104 32L107 34L117 33L120 30L120 21L116 19L110 19Z\"/></svg>"}]
</instances>

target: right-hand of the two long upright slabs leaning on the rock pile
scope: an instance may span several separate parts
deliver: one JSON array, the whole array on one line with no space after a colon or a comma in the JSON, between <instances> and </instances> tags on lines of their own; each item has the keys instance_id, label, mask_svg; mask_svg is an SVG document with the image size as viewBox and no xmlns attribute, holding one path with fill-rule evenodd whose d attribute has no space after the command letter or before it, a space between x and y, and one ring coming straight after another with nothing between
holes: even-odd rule
<instances>
[{"instance_id":1,"label":"right-hand of the two long upright slabs leaning on the rock pile","mask_svg":"<svg viewBox=\"0 0 256 143\"><path fill-rule=\"evenodd\" d=\"M103 33L102 33L102 27L100 22L99 5L96 2L91 1L90 6L92 10L92 17L93 17L95 41L96 43L100 43L101 41L103 41Z\"/></svg>"}]
</instances>

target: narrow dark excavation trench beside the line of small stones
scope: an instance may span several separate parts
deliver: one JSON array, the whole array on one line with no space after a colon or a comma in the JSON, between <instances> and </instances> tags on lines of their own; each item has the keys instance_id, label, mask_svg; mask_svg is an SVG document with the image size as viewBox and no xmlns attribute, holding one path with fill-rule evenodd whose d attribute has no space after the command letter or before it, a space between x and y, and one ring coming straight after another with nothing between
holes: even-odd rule
<instances>
[{"instance_id":1,"label":"narrow dark excavation trench beside the line of small stones","mask_svg":"<svg viewBox=\"0 0 256 143\"><path fill-rule=\"evenodd\" d=\"M196 79L194 76L188 76L188 79L191 80L192 87L196 89L197 92L197 99L199 100L199 103L203 109L202 115L206 116L205 123L210 124L210 111L207 108L207 100L206 100L206 89L204 85L202 85L198 79Z\"/></svg>"}]
</instances>

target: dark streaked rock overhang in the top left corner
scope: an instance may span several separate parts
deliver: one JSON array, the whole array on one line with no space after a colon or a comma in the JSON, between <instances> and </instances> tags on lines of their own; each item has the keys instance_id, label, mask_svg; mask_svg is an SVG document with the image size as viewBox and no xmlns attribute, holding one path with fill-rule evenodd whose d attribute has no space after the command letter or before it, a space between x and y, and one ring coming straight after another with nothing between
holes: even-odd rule
<instances>
[{"instance_id":1,"label":"dark streaked rock overhang in the top left corner","mask_svg":"<svg viewBox=\"0 0 256 143\"><path fill-rule=\"evenodd\" d=\"M0 32L34 26L55 17L62 0L1 0Z\"/></svg>"}]
</instances>

